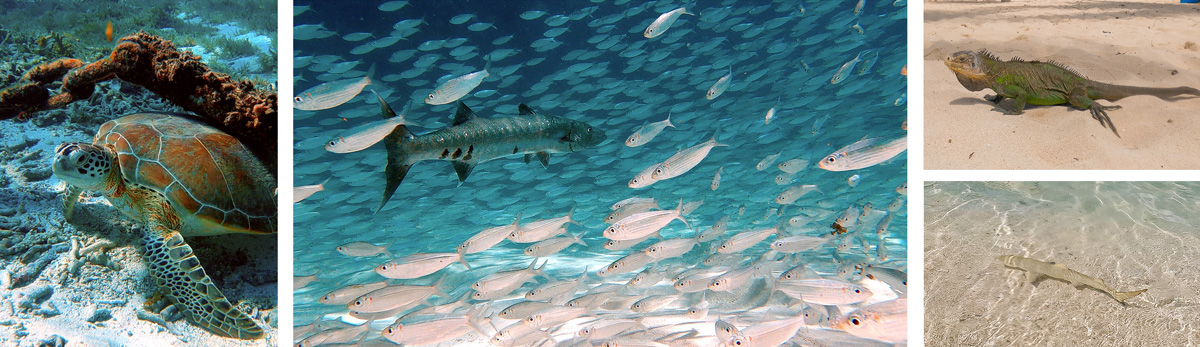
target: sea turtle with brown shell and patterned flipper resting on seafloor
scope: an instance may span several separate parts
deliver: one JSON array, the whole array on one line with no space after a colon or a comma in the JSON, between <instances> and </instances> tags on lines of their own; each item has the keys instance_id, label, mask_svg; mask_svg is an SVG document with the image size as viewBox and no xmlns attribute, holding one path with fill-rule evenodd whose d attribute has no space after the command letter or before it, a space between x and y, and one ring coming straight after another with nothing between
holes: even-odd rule
<instances>
[{"instance_id":1,"label":"sea turtle with brown shell and patterned flipper resting on seafloor","mask_svg":"<svg viewBox=\"0 0 1200 347\"><path fill-rule=\"evenodd\" d=\"M223 336L263 336L182 238L276 232L275 178L241 142L192 115L136 113L101 125L90 144L55 151L67 220L84 190L102 192L143 223L142 256L192 322Z\"/></svg>"}]
</instances>

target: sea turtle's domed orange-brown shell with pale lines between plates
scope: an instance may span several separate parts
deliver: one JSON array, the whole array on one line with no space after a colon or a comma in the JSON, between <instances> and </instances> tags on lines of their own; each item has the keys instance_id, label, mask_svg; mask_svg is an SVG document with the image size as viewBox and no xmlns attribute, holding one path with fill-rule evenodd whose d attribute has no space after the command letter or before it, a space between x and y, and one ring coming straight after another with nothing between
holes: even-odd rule
<instances>
[{"instance_id":1,"label":"sea turtle's domed orange-brown shell with pale lines between plates","mask_svg":"<svg viewBox=\"0 0 1200 347\"><path fill-rule=\"evenodd\" d=\"M275 177L241 142L196 116L126 115L101 125L92 143L116 152L126 185L166 197L185 235L276 232Z\"/></svg>"}]
</instances>

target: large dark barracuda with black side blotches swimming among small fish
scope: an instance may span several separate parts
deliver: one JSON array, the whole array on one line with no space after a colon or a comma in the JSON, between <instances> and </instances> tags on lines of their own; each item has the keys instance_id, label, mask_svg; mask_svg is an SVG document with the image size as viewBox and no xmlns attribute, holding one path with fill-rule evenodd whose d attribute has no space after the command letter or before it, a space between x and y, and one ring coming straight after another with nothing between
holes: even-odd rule
<instances>
[{"instance_id":1,"label":"large dark barracuda with black side blotches swimming among small fish","mask_svg":"<svg viewBox=\"0 0 1200 347\"><path fill-rule=\"evenodd\" d=\"M485 161L523 154L526 162L536 156L546 167L551 152L584 150L605 139L602 131L587 122L539 114L524 103L517 109L516 116L475 118L475 112L460 101L454 124L448 128L413 134L404 125L397 125L384 138L388 185L376 211L383 209L408 169L420 161L449 161L462 184L475 164Z\"/></svg>"}]
</instances>

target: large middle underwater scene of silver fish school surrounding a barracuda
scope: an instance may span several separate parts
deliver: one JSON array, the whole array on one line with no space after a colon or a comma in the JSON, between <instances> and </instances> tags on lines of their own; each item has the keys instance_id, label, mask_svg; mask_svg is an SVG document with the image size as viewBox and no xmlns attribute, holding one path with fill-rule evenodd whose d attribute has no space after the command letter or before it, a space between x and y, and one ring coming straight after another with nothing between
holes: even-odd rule
<instances>
[{"instance_id":1,"label":"large middle underwater scene of silver fish school surrounding a barracuda","mask_svg":"<svg viewBox=\"0 0 1200 347\"><path fill-rule=\"evenodd\" d=\"M907 343L902 1L428 6L294 11L295 346Z\"/></svg>"}]
</instances>

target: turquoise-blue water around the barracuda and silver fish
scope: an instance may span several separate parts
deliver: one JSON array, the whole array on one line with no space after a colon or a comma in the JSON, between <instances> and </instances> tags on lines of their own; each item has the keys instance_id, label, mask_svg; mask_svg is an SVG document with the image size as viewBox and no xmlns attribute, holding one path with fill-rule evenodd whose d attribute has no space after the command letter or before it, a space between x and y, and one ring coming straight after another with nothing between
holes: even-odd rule
<instances>
[{"instance_id":1,"label":"turquoise-blue water around the barracuda and silver fish","mask_svg":"<svg viewBox=\"0 0 1200 347\"><path fill-rule=\"evenodd\" d=\"M880 240L875 227L890 214L883 234L884 265L907 270L906 207L887 209L906 198L898 187L906 183L907 155L850 172L816 166L859 139L906 136L901 128L907 19L902 4L868 1L860 14L854 13L853 1L803 6L794 1L413 1L395 11L382 11L378 2L295 5L296 92L368 72L373 80L346 104L295 112L295 184L328 179L324 191L294 204L295 274L319 279L295 292L296 324L318 317L344 318L344 306L317 299L347 285L385 280L372 270L385 257L346 256L335 251L340 245L366 241L386 246L395 256L454 252L467 238L512 223L517 215L526 223L574 211L580 225L569 225L568 233L582 233L587 246L572 245L542 258L550 277L574 279L587 269L593 273L592 286L624 283L641 268L604 279L595 271L658 240L623 251L602 247L610 207L629 197L655 198L662 209L673 209L679 201L703 202L685 216L691 228L674 221L662 229L664 238L692 237L730 216L724 237L684 255L683 262L695 267L737 232L788 225L799 216L799 222L786 227L790 234L828 234L848 207L870 204L876 211L851 228L860 229L866 243L851 243L846 251L832 245L806 251L803 262L823 275L835 275L844 264L875 261ZM660 13L680 6L697 16L684 14L662 36L643 37L642 31ZM865 53L863 59L877 53L878 59L862 74L863 65L856 65L845 80L832 84L839 68L860 53ZM449 126L455 104L430 106L422 98L445 79L482 70L488 54L491 77L461 100L480 118L516 115L517 106L524 103L542 114L586 121L607 139L592 149L553 154L548 168L520 156L487 161L461 185L449 163L416 163L376 213L384 189L383 144L350 154L329 152L323 145L380 118L372 90L397 112L412 102L404 116L419 124L409 126L416 134ZM728 89L706 100L706 91L731 71ZM773 107L775 115L764 124ZM624 145L641 125L668 114L676 127L647 145ZM714 148L690 172L646 189L626 185L646 167L714 136L728 146ZM766 169L756 169L761 160L776 154L778 160ZM784 185L776 184L782 174L778 163L792 158L808 164L781 179ZM720 185L712 190L719 168ZM854 186L851 177L856 177ZM809 193L791 205L775 203L793 185L816 185L822 193ZM769 240L739 256L763 256ZM472 271L455 264L420 280L394 282L431 283L449 275L452 293L434 301L452 301L486 274L528 265L532 258L522 255L526 246L503 241L468 255ZM847 276L857 281L856 275ZM376 322L370 336L377 336L384 323L391 322Z\"/></svg>"}]
</instances>

